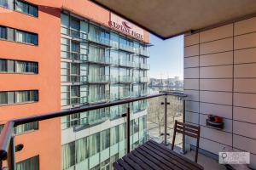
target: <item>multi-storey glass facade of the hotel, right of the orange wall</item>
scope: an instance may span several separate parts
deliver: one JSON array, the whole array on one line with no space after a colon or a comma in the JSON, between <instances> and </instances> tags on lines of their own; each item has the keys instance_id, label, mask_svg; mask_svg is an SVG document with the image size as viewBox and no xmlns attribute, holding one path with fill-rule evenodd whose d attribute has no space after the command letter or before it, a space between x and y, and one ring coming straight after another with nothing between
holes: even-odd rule
<instances>
[{"instance_id":1,"label":"multi-storey glass facade of the hotel, right of the orange wall","mask_svg":"<svg viewBox=\"0 0 256 170\"><path fill-rule=\"evenodd\" d=\"M61 14L61 108L128 99L147 94L148 49L121 33ZM84 137L62 141L62 169L113 169L125 155L128 105L87 111L61 118L62 135L101 128ZM130 104L131 148L146 139L147 101ZM104 124L104 126L103 126ZM103 126L103 127L102 127ZM87 132L87 131L86 131Z\"/></svg>"}]
</instances>

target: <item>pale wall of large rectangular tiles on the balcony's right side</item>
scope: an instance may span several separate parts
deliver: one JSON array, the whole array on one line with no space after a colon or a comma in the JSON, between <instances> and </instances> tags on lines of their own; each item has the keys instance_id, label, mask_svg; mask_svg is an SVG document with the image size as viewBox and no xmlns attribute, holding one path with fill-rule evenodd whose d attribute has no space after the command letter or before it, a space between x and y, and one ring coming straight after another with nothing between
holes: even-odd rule
<instances>
[{"instance_id":1,"label":"pale wall of large rectangular tiles on the balcony's right side","mask_svg":"<svg viewBox=\"0 0 256 170\"><path fill-rule=\"evenodd\" d=\"M256 168L256 17L184 37L186 121L201 125L201 149L251 152ZM207 127L207 115L224 129Z\"/></svg>"}]
</instances>

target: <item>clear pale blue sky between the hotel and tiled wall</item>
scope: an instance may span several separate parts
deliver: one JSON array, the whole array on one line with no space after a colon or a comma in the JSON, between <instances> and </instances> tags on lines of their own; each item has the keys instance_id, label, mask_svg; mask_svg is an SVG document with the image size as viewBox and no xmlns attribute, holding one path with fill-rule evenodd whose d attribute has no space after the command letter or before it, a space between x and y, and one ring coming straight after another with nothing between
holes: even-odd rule
<instances>
[{"instance_id":1,"label":"clear pale blue sky between the hotel and tiled wall","mask_svg":"<svg viewBox=\"0 0 256 170\"><path fill-rule=\"evenodd\" d=\"M150 34L148 77L183 79L183 36L161 40Z\"/></svg>"}]
</instances>

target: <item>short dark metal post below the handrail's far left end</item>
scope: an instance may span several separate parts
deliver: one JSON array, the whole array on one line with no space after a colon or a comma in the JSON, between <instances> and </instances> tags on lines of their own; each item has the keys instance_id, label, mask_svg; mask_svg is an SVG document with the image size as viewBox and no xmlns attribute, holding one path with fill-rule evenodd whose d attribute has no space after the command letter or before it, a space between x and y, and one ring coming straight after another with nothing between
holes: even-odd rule
<instances>
[{"instance_id":1,"label":"short dark metal post below the handrail's far left end","mask_svg":"<svg viewBox=\"0 0 256 170\"><path fill-rule=\"evenodd\" d=\"M10 139L9 143L9 154L8 154L8 169L9 170L15 170L15 136L13 135L12 138Z\"/></svg>"}]
</instances>

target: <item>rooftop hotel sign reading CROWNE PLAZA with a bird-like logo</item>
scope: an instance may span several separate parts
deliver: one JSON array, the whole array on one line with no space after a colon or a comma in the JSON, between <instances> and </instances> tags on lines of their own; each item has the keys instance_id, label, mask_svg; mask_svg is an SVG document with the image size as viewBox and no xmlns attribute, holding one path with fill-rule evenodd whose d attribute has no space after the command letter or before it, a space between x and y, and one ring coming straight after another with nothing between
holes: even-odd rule
<instances>
[{"instance_id":1,"label":"rooftop hotel sign reading CROWNE PLAZA with a bird-like logo","mask_svg":"<svg viewBox=\"0 0 256 170\"><path fill-rule=\"evenodd\" d=\"M138 26L132 25L127 20L120 18L118 15L111 13L109 26L117 31L121 31L129 36L143 40L143 29Z\"/></svg>"}]
</instances>

